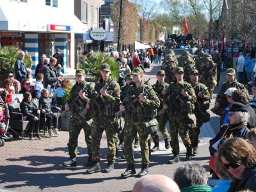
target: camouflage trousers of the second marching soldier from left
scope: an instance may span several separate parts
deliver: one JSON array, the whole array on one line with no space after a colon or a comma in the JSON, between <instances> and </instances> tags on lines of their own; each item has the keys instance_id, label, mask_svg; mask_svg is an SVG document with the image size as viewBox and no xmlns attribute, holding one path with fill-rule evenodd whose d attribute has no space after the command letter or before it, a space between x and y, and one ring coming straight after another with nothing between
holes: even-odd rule
<instances>
[{"instance_id":1,"label":"camouflage trousers of the second marching soldier from left","mask_svg":"<svg viewBox=\"0 0 256 192\"><path fill-rule=\"evenodd\" d=\"M100 140L102 138L103 131L106 132L108 143L108 155L107 160L115 161L116 159L116 122L115 116L102 116L93 118L92 122L92 161L100 161Z\"/></svg>"}]
</instances>

